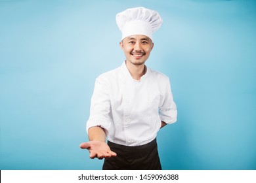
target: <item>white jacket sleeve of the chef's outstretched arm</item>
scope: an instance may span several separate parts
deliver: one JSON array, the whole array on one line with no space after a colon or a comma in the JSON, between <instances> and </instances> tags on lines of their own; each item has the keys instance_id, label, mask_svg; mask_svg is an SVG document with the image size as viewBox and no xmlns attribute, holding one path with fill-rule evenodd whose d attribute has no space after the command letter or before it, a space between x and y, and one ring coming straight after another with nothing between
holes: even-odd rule
<instances>
[{"instance_id":1,"label":"white jacket sleeve of the chef's outstretched arm","mask_svg":"<svg viewBox=\"0 0 256 183\"><path fill-rule=\"evenodd\" d=\"M100 126L104 129L106 136L111 125L110 118L109 87L106 78L96 78L95 89L91 97L90 116L87 121L86 130L90 127Z\"/></svg>"}]
</instances>

